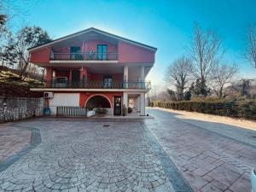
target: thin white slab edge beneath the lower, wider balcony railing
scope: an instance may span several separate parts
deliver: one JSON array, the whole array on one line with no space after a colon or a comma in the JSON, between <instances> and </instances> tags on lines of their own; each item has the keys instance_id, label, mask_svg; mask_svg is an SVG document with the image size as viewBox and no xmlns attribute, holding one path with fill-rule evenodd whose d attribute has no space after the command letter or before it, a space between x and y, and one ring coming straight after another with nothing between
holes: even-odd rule
<instances>
[{"instance_id":1,"label":"thin white slab edge beneath the lower, wider balcony railing","mask_svg":"<svg viewBox=\"0 0 256 192\"><path fill-rule=\"evenodd\" d=\"M30 88L30 90L34 90L34 91L67 91L67 92L81 92L81 91L101 91L101 92L148 92L148 90L137 90L137 89L65 89L65 88Z\"/></svg>"}]
</instances>

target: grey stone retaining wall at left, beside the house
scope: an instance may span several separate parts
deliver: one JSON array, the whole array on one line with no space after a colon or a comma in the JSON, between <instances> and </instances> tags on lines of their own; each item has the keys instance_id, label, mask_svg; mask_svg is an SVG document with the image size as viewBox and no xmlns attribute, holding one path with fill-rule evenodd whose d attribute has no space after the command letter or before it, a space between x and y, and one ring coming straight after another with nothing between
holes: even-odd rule
<instances>
[{"instance_id":1,"label":"grey stone retaining wall at left, beside the house","mask_svg":"<svg viewBox=\"0 0 256 192\"><path fill-rule=\"evenodd\" d=\"M44 98L0 96L0 122L42 116Z\"/></svg>"}]
</instances>

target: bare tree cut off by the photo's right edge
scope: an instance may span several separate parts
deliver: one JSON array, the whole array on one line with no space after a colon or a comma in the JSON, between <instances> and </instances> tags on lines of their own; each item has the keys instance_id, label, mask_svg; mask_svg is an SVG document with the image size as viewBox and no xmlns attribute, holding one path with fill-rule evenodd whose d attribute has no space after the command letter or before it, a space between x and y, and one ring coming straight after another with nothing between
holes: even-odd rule
<instances>
[{"instance_id":1,"label":"bare tree cut off by the photo's right edge","mask_svg":"<svg viewBox=\"0 0 256 192\"><path fill-rule=\"evenodd\" d=\"M247 30L247 61L256 68L256 24L248 27Z\"/></svg>"}]
</instances>

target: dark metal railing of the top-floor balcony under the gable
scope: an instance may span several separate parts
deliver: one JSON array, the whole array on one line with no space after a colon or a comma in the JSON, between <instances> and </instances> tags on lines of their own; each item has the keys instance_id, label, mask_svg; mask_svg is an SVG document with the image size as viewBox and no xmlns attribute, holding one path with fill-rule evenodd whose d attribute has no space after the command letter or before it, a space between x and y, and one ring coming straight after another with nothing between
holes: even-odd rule
<instances>
[{"instance_id":1,"label":"dark metal railing of the top-floor balcony under the gable","mask_svg":"<svg viewBox=\"0 0 256 192\"><path fill-rule=\"evenodd\" d=\"M83 53L55 53L52 52L50 60L66 60L66 61L117 61L118 53L107 52L83 52Z\"/></svg>"}]
</instances>

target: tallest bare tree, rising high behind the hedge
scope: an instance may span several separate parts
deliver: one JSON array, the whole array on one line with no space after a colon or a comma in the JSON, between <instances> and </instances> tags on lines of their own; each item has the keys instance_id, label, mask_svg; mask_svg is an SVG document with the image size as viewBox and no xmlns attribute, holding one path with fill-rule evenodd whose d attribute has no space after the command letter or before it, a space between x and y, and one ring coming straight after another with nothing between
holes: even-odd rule
<instances>
[{"instance_id":1,"label":"tallest bare tree, rising high behind the hedge","mask_svg":"<svg viewBox=\"0 0 256 192\"><path fill-rule=\"evenodd\" d=\"M223 40L218 37L217 32L210 29L204 32L198 24L195 24L195 34L189 52L194 61L195 78L201 81L203 87L207 87L212 68L224 55ZM202 92L206 91L202 90Z\"/></svg>"}]
</instances>

